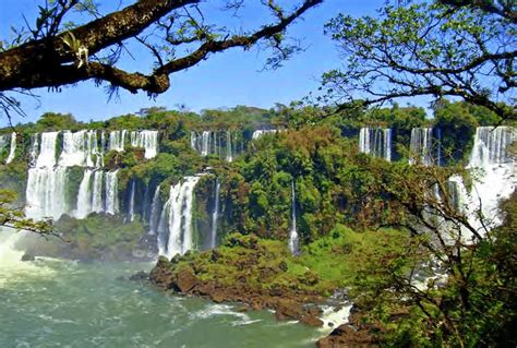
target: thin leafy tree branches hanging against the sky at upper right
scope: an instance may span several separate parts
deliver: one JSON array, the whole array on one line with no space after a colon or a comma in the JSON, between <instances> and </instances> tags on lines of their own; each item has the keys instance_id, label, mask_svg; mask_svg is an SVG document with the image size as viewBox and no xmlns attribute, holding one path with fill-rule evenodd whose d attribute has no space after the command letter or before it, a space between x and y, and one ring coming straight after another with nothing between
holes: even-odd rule
<instances>
[{"instance_id":1,"label":"thin leafy tree branches hanging against the sky at upper right","mask_svg":"<svg viewBox=\"0 0 517 348\"><path fill-rule=\"evenodd\" d=\"M325 31L344 68L324 74L341 108L420 95L459 97L516 118L517 8L512 0L397 1L377 19L339 14Z\"/></svg>"}]
</instances>

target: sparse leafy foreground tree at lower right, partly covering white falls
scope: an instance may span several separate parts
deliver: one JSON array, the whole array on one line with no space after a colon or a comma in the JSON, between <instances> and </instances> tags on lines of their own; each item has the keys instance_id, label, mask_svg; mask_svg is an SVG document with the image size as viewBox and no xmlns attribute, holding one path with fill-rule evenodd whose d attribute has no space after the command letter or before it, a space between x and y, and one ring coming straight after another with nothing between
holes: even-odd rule
<instances>
[{"instance_id":1,"label":"sparse leafy foreground tree at lower right, partly covering white falls","mask_svg":"<svg viewBox=\"0 0 517 348\"><path fill-rule=\"evenodd\" d=\"M502 204L503 225L492 228L478 208L457 204L449 178L461 171L386 166L372 168L378 204L390 212L381 226L412 238L399 253L365 255L358 276L358 302L384 326L383 346L514 346L517 192Z\"/></svg>"}]
</instances>

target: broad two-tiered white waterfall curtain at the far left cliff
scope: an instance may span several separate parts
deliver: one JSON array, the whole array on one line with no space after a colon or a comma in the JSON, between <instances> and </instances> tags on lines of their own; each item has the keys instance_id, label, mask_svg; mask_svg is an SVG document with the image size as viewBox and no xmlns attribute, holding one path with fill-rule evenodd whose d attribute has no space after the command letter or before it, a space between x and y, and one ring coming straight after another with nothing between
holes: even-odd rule
<instances>
[{"instance_id":1,"label":"broad two-tiered white waterfall curtain at the far left cliff","mask_svg":"<svg viewBox=\"0 0 517 348\"><path fill-rule=\"evenodd\" d=\"M91 213L118 212L117 171L105 172L104 142L98 144L96 131L62 133L62 152L57 160L59 132L35 134L28 169L25 213L34 219L58 219L63 214L85 218ZM115 134L115 135L113 135ZM123 145L124 131L115 131L110 137ZM68 168L83 167L83 179L74 196L67 196ZM70 209L70 206L76 206Z\"/></svg>"}]
</instances>

